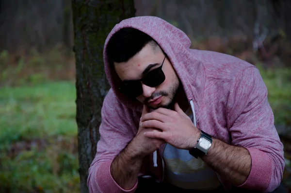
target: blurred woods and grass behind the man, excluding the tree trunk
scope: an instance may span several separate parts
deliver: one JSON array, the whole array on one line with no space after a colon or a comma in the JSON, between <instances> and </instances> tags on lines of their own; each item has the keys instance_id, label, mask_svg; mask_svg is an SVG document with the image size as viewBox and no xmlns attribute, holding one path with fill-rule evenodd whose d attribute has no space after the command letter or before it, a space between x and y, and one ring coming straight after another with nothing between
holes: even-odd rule
<instances>
[{"instance_id":1,"label":"blurred woods and grass behind the man, excluding the tree trunk","mask_svg":"<svg viewBox=\"0 0 291 193\"><path fill-rule=\"evenodd\" d=\"M291 189L291 1L135 0L136 16L183 30L192 48L256 65L284 143ZM70 0L0 0L0 193L78 193Z\"/></svg>"}]
</instances>

